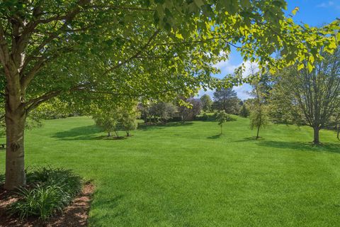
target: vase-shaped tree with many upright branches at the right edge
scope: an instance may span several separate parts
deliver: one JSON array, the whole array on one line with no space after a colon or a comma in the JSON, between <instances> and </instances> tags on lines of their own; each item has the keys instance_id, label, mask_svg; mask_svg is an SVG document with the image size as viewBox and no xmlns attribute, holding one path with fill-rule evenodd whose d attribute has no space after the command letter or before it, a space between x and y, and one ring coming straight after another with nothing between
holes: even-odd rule
<instances>
[{"instance_id":1,"label":"vase-shaped tree with many upright branches at the right edge","mask_svg":"<svg viewBox=\"0 0 340 227\"><path fill-rule=\"evenodd\" d=\"M309 65L305 62L280 70L273 90L278 108L283 106L288 114L290 109L296 110L293 118L313 128L315 144L319 143L319 130L340 108L340 49L322 55L324 60L314 62L314 69L300 69Z\"/></svg>"}]
</instances>

